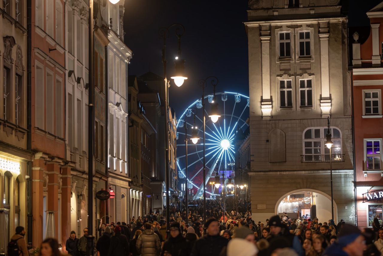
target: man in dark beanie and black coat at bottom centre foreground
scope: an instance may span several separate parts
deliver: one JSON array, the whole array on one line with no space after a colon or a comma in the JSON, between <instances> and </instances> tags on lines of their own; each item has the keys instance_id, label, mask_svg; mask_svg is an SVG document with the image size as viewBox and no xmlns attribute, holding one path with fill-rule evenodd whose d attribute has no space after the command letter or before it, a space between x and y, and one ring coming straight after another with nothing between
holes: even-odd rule
<instances>
[{"instance_id":1,"label":"man in dark beanie and black coat at bottom centre foreground","mask_svg":"<svg viewBox=\"0 0 383 256\"><path fill-rule=\"evenodd\" d=\"M198 239L191 256L218 256L222 249L228 245L228 240L219 235L219 222L215 218L209 218L205 223L206 233Z\"/></svg>"}]
</instances>

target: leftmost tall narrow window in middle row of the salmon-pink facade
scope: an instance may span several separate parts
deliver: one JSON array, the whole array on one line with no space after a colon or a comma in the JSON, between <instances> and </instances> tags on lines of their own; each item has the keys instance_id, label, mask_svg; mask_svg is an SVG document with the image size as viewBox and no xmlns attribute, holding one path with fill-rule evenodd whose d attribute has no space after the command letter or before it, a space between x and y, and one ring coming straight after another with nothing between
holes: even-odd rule
<instances>
[{"instance_id":1,"label":"leftmost tall narrow window in middle row of the salmon-pink facade","mask_svg":"<svg viewBox=\"0 0 383 256\"><path fill-rule=\"evenodd\" d=\"M43 67L36 65L36 101L34 103L35 124L34 126L44 129L44 71Z\"/></svg>"}]
</instances>

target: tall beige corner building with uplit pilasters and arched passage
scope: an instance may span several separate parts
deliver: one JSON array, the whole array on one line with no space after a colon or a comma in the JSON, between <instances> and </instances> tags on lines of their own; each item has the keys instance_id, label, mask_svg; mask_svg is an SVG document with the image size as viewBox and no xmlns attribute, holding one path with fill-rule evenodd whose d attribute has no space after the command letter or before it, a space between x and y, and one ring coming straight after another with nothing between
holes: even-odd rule
<instances>
[{"instance_id":1,"label":"tall beige corner building with uplit pilasters and arched passage","mask_svg":"<svg viewBox=\"0 0 383 256\"><path fill-rule=\"evenodd\" d=\"M355 222L347 19L340 1L250 1L251 210ZM331 117L332 157L324 142Z\"/></svg>"}]
</instances>

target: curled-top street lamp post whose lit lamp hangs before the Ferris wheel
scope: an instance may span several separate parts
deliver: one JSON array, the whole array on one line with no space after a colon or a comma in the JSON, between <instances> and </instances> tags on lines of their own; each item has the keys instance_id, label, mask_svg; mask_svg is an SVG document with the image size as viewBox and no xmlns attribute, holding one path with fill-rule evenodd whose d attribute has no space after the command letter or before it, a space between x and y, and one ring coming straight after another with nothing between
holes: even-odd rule
<instances>
[{"instance_id":1,"label":"curled-top street lamp post whose lit lamp hangs before the Ferris wheel","mask_svg":"<svg viewBox=\"0 0 383 256\"><path fill-rule=\"evenodd\" d=\"M204 223L203 234L204 235L206 234L206 227L205 227L205 223L206 223L205 87L207 86L207 81L209 79L211 79L211 85L213 85L213 88L214 88L214 98L213 98L214 103L211 106L211 113L210 113L209 117L211 118L211 121L213 121L213 123L218 121L218 118L221 117L221 115L218 114L218 103L215 99L215 87L218 84L218 78L214 77L214 76L209 76L209 77L206 77L205 80L200 80L198 82L200 87L202 87L202 98L201 98L201 100L202 100L202 113L203 113L203 173L202 173L202 176L203 176L203 223Z\"/></svg>"}]
</instances>

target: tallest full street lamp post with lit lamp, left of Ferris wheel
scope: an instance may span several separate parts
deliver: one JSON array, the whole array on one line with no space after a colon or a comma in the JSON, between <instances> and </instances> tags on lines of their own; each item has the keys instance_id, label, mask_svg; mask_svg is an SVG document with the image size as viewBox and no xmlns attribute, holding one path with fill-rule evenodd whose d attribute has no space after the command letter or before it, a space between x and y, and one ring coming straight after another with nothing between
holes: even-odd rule
<instances>
[{"instance_id":1,"label":"tallest full street lamp post with lit lamp, left of Ferris wheel","mask_svg":"<svg viewBox=\"0 0 383 256\"><path fill-rule=\"evenodd\" d=\"M170 184L170 173L169 173L169 114L168 114L168 94L170 81L166 77L166 39L169 37L169 29L175 27L175 34L178 38L178 56L175 57L175 76L171 77L175 84L180 87L184 80L187 79L184 73L185 60L181 58L181 36L185 33L185 27L181 24L175 23L170 25L167 28L160 28L159 34L160 37L164 40L164 45L162 47L162 64L164 66L164 84L165 84L165 184L166 184L166 233L169 236L169 219L170 219L170 202L169 202L169 184ZM180 33L181 31L181 33Z\"/></svg>"}]
</instances>

